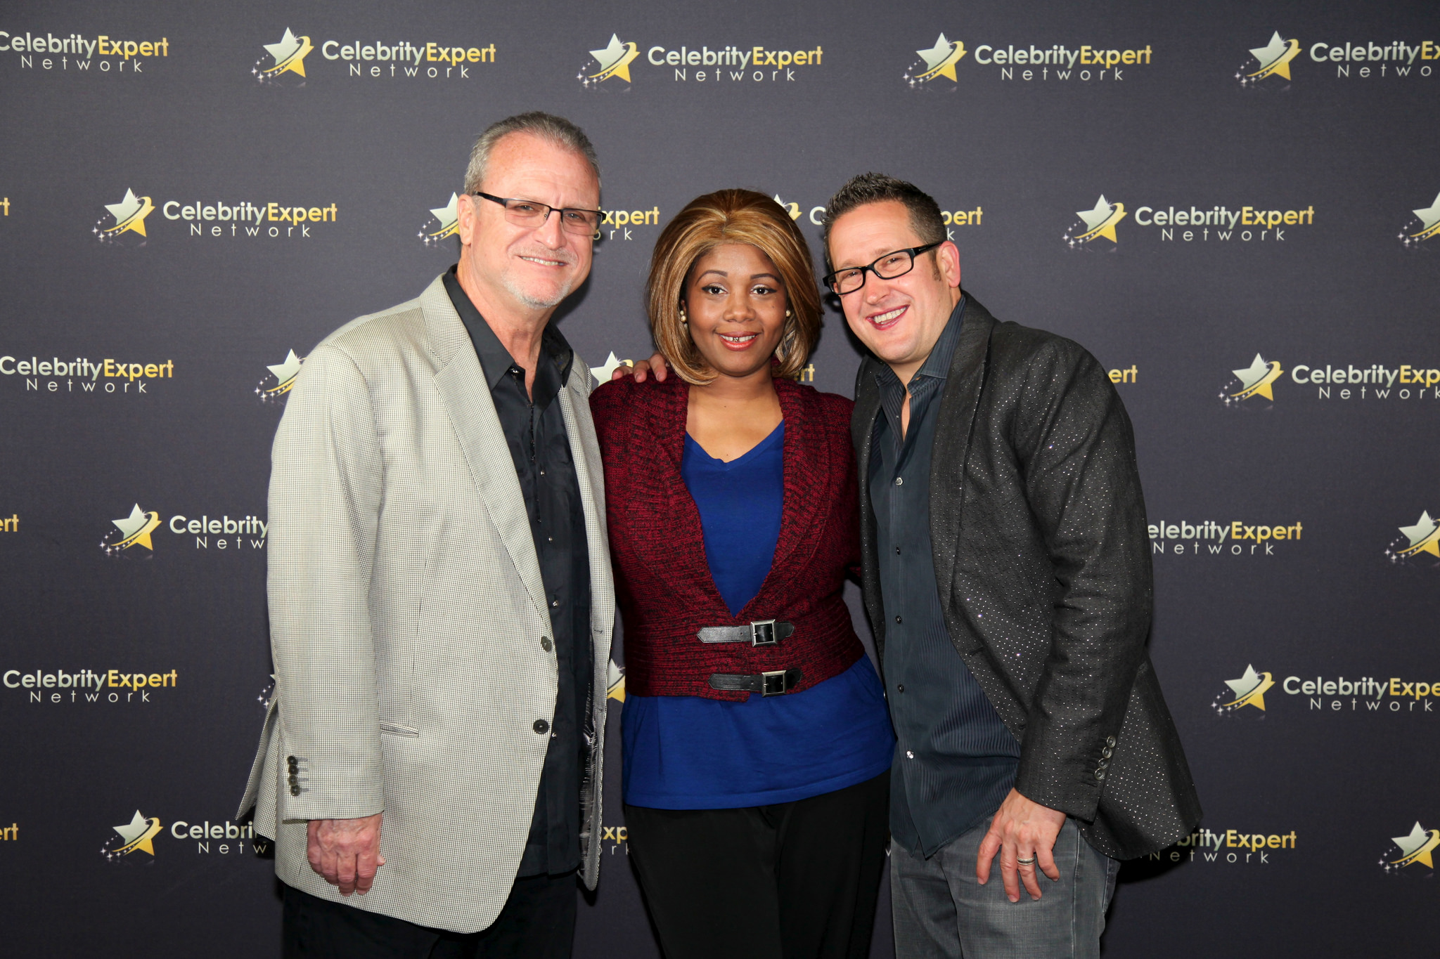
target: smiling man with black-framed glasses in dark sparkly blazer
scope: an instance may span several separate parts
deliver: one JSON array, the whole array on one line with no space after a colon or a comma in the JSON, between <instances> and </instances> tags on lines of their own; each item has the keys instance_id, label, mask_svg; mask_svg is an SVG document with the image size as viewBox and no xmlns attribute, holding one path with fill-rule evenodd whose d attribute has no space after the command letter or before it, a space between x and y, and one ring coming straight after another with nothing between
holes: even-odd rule
<instances>
[{"instance_id":1,"label":"smiling man with black-framed glasses in dark sparkly blazer","mask_svg":"<svg viewBox=\"0 0 1440 959\"><path fill-rule=\"evenodd\" d=\"M1146 653L1135 440L1096 359L992 318L945 237L935 200L878 174L827 208L825 285L873 354L851 430L896 952L1099 956L1119 860L1200 821Z\"/></svg>"}]
</instances>

